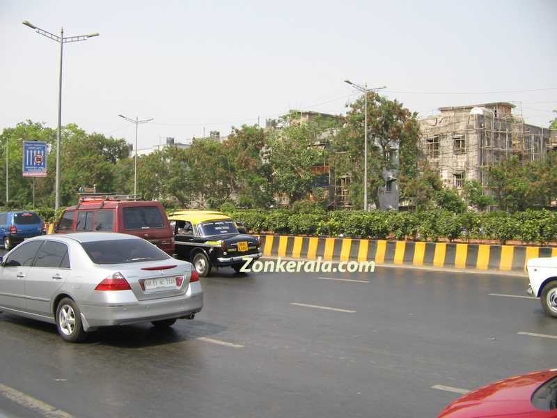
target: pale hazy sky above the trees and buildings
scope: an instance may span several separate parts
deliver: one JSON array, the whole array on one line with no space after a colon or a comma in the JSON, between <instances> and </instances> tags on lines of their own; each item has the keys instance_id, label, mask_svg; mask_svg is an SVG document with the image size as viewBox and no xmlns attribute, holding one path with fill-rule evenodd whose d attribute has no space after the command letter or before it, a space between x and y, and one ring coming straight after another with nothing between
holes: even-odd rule
<instances>
[{"instance_id":1,"label":"pale hazy sky above the trees and buildings","mask_svg":"<svg viewBox=\"0 0 557 418\"><path fill-rule=\"evenodd\" d=\"M292 108L339 114L356 98L346 78L385 85L423 115L512 101L547 126L556 17L556 0L0 0L0 129L28 118L56 126L59 45L22 20L100 32L64 45L62 123L134 141L118 114L155 118L139 128L139 148Z\"/></svg>"}]
</instances>

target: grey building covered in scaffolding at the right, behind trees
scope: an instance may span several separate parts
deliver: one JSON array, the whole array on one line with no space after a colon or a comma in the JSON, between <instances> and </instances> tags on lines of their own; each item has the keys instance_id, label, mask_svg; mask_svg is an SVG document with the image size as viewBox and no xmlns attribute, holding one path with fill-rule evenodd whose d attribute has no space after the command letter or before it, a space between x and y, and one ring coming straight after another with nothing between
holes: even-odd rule
<instances>
[{"instance_id":1,"label":"grey building covered in scaffolding at the right, behind trees","mask_svg":"<svg viewBox=\"0 0 557 418\"><path fill-rule=\"evenodd\" d=\"M483 169L516 156L520 162L541 160L553 146L554 132L528 125L512 114L514 104L494 102L441 107L441 114L420 120L421 153L444 185L460 189L465 180L484 187Z\"/></svg>"}]
</instances>

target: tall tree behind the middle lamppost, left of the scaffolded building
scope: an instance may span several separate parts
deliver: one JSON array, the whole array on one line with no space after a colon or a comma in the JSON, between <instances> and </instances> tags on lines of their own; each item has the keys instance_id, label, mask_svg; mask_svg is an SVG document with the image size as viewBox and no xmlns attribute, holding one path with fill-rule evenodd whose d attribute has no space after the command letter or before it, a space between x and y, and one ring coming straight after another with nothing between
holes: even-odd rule
<instances>
[{"instance_id":1,"label":"tall tree behind the middle lamppost, left of the scaffolded building","mask_svg":"<svg viewBox=\"0 0 557 418\"><path fill-rule=\"evenodd\" d=\"M345 126L335 136L332 149L336 176L348 174L352 179L350 199L356 207L361 207L363 200L364 119L362 96L350 105ZM418 135L415 113L397 100L368 93L368 196L377 207L385 170L398 169L400 195L407 197L411 179L418 173Z\"/></svg>"}]
</instances>

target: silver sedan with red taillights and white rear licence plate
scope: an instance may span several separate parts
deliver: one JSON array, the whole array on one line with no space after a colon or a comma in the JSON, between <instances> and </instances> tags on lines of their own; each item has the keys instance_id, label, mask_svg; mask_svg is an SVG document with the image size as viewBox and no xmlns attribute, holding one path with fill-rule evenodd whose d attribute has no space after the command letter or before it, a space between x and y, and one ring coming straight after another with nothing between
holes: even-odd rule
<instances>
[{"instance_id":1,"label":"silver sedan with red taillights and white rear licence plate","mask_svg":"<svg viewBox=\"0 0 557 418\"><path fill-rule=\"evenodd\" d=\"M40 235L0 257L0 311L56 324L65 341L97 327L169 327L202 308L191 263L134 235Z\"/></svg>"}]
</instances>

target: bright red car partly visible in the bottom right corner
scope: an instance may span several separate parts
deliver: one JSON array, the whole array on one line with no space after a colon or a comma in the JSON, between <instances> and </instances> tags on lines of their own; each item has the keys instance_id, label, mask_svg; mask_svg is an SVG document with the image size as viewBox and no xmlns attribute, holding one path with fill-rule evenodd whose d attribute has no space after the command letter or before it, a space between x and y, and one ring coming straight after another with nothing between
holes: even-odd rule
<instances>
[{"instance_id":1,"label":"bright red car partly visible in the bottom right corner","mask_svg":"<svg viewBox=\"0 0 557 418\"><path fill-rule=\"evenodd\" d=\"M557 418L557 369L480 387L449 403L437 418Z\"/></svg>"}]
</instances>

